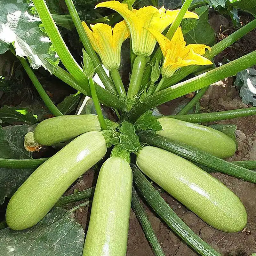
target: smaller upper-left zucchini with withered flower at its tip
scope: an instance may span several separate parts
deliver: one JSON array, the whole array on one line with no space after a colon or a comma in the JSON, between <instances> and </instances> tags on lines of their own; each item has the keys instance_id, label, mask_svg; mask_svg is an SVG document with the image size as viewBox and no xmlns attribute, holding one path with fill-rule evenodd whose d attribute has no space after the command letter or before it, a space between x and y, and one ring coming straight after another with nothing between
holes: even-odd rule
<instances>
[{"instance_id":1,"label":"smaller upper-left zucchini with withered flower at its tip","mask_svg":"<svg viewBox=\"0 0 256 256\"><path fill-rule=\"evenodd\" d=\"M108 128L115 128L116 123L105 120ZM34 138L40 145L51 146L85 132L100 131L100 122L96 115L67 115L45 119L36 126Z\"/></svg>"}]
</instances>

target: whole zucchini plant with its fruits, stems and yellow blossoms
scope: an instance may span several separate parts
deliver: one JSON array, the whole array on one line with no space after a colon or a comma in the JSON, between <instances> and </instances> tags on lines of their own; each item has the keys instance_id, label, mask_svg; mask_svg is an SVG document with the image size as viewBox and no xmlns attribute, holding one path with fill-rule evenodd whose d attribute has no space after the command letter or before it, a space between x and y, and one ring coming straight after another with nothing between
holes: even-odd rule
<instances>
[{"instance_id":1,"label":"whole zucchini plant with its fruits, stems and yellow blossoms","mask_svg":"<svg viewBox=\"0 0 256 256\"><path fill-rule=\"evenodd\" d=\"M11 2L14 6L20 4L20 1ZM196 12L188 11L192 0L185 0L180 10L172 11L154 6L137 10L132 7L134 1L97 4L95 8L109 8L122 16L123 20L113 27L107 23L89 25L81 21L72 0L65 2L83 44L81 66L68 50L44 0L33 0L27 7L30 11L33 9L34 15L38 14L39 18L34 18L47 33L51 51L56 51L66 70L58 65L59 60L53 61L52 56L47 55L49 51L45 55L34 54L33 59L29 51L20 53L15 40L0 37L0 45L17 56L55 116L29 132L25 148L34 151L40 150L41 146L65 142L65 146L49 158L0 159L0 167L37 168L12 195L6 209L6 224L19 232L32 230L42 219L45 221L54 206L81 200L85 202L79 205L84 206L94 193L84 246L74 255L126 255L131 203L155 255L164 255L140 205L140 195L197 253L220 255L186 226L148 180L154 181L213 228L238 232L246 226L247 213L240 199L207 172L215 170L255 183L256 172L251 169L256 169L256 164L242 162L236 165L223 160L235 154L235 141L223 132L195 123L255 115L256 108L186 114L197 104L207 86L256 64L254 51L211 68L212 58L256 28L256 20L210 47L187 44L184 39L185 25L199 19ZM182 23L183 19L188 22ZM132 69L128 87L118 70L121 46L127 38L131 42ZM157 43L159 48L154 52ZM33 51L36 50L33 48ZM55 52L52 55L57 56ZM37 60L54 76L92 97L97 115L63 115L44 91L25 57L32 67L36 67ZM204 67L205 71L188 79L187 76L199 67ZM206 71L209 67L210 71ZM104 88L93 80L95 73ZM152 115L152 109L158 105L197 90L201 91L180 111L183 115L158 118ZM101 104L111 107L119 121L105 119ZM106 159L108 148L111 154ZM104 163L95 188L61 197L74 181L102 158ZM26 255L29 255L30 247L27 249Z\"/></svg>"}]
</instances>

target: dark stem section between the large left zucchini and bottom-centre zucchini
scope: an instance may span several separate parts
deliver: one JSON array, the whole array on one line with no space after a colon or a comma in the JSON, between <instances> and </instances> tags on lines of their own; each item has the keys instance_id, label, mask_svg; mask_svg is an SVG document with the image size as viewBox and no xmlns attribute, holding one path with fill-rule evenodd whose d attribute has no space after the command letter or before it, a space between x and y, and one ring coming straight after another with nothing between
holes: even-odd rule
<instances>
[{"instance_id":1,"label":"dark stem section between the large left zucchini and bottom-centre zucchini","mask_svg":"<svg viewBox=\"0 0 256 256\"><path fill-rule=\"evenodd\" d=\"M81 200L89 200L92 199L94 194L95 187L87 188L85 190L76 192L74 194L68 196L62 196L55 204L55 206L63 206L65 204L74 203Z\"/></svg>"}]
</instances>

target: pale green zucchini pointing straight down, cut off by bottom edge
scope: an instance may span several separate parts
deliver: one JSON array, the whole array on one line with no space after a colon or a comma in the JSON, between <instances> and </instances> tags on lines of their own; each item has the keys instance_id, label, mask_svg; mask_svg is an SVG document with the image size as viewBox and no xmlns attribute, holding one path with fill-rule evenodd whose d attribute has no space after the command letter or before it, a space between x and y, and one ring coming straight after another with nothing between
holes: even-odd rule
<instances>
[{"instance_id":1,"label":"pale green zucchini pointing straight down, cut off by bottom edge","mask_svg":"<svg viewBox=\"0 0 256 256\"><path fill-rule=\"evenodd\" d=\"M83 256L125 256L132 198L132 170L120 157L102 165Z\"/></svg>"}]
</instances>

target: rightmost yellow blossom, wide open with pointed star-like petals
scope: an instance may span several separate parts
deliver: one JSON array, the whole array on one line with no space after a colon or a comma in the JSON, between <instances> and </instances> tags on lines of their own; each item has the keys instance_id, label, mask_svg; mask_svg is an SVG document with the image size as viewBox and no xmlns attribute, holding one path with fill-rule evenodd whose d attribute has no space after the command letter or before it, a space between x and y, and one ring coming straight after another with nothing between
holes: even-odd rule
<instances>
[{"instance_id":1,"label":"rightmost yellow blossom, wide open with pointed star-like petals","mask_svg":"<svg viewBox=\"0 0 256 256\"><path fill-rule=\"evenodd\" d=\"M180 27L176 30L172 40L154 29L148 29L148 31L156 38L164 55L163 77L172 76L181 67L213 64L212 61L201 56L205 53L205 49L211 48L205 44L188 44L186 46Z\"/></svg>"}]
</instances>

